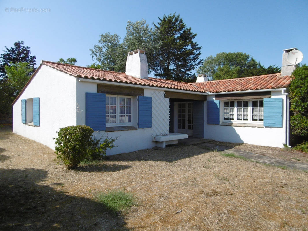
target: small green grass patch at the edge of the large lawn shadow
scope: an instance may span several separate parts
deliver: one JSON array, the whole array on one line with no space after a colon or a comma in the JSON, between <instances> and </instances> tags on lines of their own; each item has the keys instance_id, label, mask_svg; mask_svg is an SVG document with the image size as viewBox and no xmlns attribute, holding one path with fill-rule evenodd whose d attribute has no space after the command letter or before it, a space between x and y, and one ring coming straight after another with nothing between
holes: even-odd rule
<instances>
[{"instance_id":1,"label":"small green grass patch at the edge of the large lawn shadow","mask_svg":"<svg viewBox=\"0 0 308 231\"><path fill-rule=\"evenodd\" d=\"M136 198L132 193L123 190L112 190L101 192L96 195L97 200L102 203L108 212L116 215L120 212L127 212L132 205L137 205Z\"/></svg>"}]
</instances>

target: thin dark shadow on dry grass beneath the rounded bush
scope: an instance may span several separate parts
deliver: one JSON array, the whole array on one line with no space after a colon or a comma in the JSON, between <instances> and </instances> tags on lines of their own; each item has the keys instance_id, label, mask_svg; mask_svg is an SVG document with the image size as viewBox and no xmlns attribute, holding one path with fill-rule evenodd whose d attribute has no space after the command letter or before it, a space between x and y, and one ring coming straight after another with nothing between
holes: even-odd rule
<instances>
[{"instance_id":1,"label":"thin dark shadow on dry grass beneath the rounded bush","mask_svg":"<svg viewBox=\"0 0 308 231\"><path fill-rule=\"evenodd\" d=\"M130 165L124 164L106 164L102 162L97 162L95 164L81 164L74 168L74 170L80 172L117 172L131 167L132 166Z\"/></svg>"}]
</instances>

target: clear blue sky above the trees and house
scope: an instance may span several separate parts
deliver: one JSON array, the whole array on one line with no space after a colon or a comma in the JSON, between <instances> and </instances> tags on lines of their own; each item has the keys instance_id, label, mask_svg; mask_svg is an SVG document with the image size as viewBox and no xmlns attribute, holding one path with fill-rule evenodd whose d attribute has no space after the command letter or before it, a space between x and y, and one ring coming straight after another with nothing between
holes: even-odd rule
<instances>
[{"instance_id":1,"label":"clear blue sky above the trees and house","mask_svg":"<svg viewBox=\"0 0 308 231\"><path fill-rule=\"evenodd\" d=\"M49 12L30 12L37 10ZM219 52L244 52L262 65L281 67L282 50L297 47L308 64L308 1L6 1L0 2L0 49L24 41L36 62L75 57L86 66L99 35L124 38L127 21L152 25L180 14L202 46L201 58ZM7 12L8 11L8 12ZM3 53L3 52L1 52Z\"/></svg>"}]
</instances>

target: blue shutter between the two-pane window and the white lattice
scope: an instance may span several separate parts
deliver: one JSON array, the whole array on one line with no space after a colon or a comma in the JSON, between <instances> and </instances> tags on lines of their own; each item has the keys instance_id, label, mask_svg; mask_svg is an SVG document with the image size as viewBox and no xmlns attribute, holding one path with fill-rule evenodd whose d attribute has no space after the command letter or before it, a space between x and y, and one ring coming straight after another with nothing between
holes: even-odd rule
<instances>
[{"instance_id":1,"label":"blue shutter between the two-pane window and the white lattice","mask_svg":"<svg viewBox=\"0 0 308 231\"><path fill-rule=\"evenodd\" d=\"M138 97L138 127L152 128L152 97Z\"/></svg>"}]
</instances>

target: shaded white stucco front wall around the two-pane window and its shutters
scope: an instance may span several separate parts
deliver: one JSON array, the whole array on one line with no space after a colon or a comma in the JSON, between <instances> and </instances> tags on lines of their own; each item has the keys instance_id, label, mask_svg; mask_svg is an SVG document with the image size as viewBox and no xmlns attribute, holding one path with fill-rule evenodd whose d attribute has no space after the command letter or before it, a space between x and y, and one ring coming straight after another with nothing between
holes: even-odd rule
<instances>
[{"instance_id":1,"label":"shaded white stucco front wall around the two-pane window and its shutters","mask_svg":"<svg viewBox=\"0 0 308 231\"><path fill-rule=\"evenodd\" d=\"M157 90L161 91L161 90ZM77 124L83 125L85 124L86 112L85 112L85 103L86 103L86 92L97 92L97 83L83 82L77 81ZM163 92L163 91L162 91ZM161 100L169 100L164 98L163 94L156 92L156 90L144 89L144 96L152 97L155 95L161 95ZM137 98L137 97L136 97ZM133 102L137 104L137 100L133 99ZM78 110L78 108L80 108ZM137 121L137 105L133 105L133 120ZM155 116L155 113L152 116ZM162 116L162 115L160 115ZM164 113L164 118L168 118L167 122L169 122L169 109L168 113ZM155 121L155 118L152 118L152 123ZM164 121L165 122L165 121ZM155 122L154 122L155 123ZM137 127L136 124L134 124ZM169 128L169 123L166 125ZM153 124L152 124L153 127ZM165 130L164 130L165 132ZM129 130L129 131L117 131L117 132L95 132L94 136L98 139L101 136L106 136L110 138L118 137L115 141L115 145L118 147L108 149L106 151L107 155L114 155L125 152L133 152L141 149L153 148L156 146L156 143L152 141L152 128L138 128L137 130Z\"/></svg>"}]
</instances>

